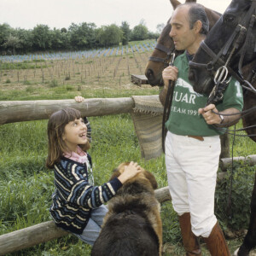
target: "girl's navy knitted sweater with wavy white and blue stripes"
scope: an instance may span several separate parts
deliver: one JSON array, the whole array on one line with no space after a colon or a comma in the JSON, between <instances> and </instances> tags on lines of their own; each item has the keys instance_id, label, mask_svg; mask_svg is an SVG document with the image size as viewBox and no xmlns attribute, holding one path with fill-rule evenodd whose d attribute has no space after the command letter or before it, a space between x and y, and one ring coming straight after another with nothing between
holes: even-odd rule
<instances>
[{"instance_id":1,"label":"girl's navy knitted sweater with wavy white and blue stripes","mask_svg":"<svg viewBox=\"0 0 256 256\"><path fill-rule=\"evenodd\" d=\"M91 166L89 154L88 158ZM102 186L91 185L87 165L65 157L55 164L54 172L55 193L49 212L58 227L75 234L82 234L91 209L109 201L122 186L117 177Z\"/></svg>"}]
</instances>

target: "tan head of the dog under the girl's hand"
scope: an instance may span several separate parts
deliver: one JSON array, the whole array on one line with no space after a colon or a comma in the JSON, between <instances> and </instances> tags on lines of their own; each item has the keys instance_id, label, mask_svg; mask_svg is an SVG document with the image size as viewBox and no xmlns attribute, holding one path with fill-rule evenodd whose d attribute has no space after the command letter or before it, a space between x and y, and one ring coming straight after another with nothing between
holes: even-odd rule
<instances>
[{"instance_id":1,"label":"tan head of the dog under the girl's hand","mask_svg":"<svg viewBox=\"0 0 256 256\"><path fill-rule=\"evenodd\" d=\"M128 166L129 164L130 162L121 163L116 169L113 170L113 174L110 177L110 180L112 180L114 177L119 177L119 175L125 171L125 166ZM133 183L137 180L144 180L149 182L153 189L157 189L157 182L154 175L143 168L142 170L143 172L138 173L135 177L132 177L125 183Z\"/></svg>"}]
</instances>

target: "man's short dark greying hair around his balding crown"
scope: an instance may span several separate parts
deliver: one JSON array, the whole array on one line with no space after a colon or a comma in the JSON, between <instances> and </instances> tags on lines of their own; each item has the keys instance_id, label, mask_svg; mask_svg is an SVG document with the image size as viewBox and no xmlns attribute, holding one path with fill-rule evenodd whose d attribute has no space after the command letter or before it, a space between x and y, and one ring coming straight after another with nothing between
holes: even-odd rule
<instances>
[{"instance_id":1,"label":"man's short dark greying hair around his balding crown","mask_svg":"<svg viewBox=\"0 0 256 256\"><path fill-rule=\"evenodd\" d=\"M192 29L197 20L201 20L201 31L200 33L203 35L207 35L209 31L209 20L207 18L206 11L201 4L198 3L188 3L190 5L189 8L189 25L190 29Z\"/></svg>"}]
</instances>

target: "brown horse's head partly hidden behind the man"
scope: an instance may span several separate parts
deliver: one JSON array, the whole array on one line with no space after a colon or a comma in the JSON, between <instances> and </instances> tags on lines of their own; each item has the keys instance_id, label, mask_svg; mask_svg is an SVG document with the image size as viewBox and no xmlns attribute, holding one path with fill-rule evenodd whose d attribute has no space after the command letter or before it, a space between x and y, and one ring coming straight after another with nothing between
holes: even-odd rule
<instances>
[{"instance_id":1,"label":"brown horse's head partly hidden behind the man","mask_svg":"<svg viewBox=\"0 0 256 256\"><path fill-rule=\"evenodd\" d=\"M172 3L172 8L176 9L179 4L177 0L170 0ZM195 3L196 0L186 0L185 3ZM219 18L219 14L211 9L205 8L207 17L209 20L210 29L215 24ZM174 44L172 38L170 38L169 33L171 32L170 25L171 18L167 21L166 26L163 31L160 33L160 37L157 40L156 47L149 57L145 69L145 75L148 78L148 83L152 86L158 85L163 86L162 71L165 67L169 65L171 59L171 53L174 50ZM176 51L176 55L181 54L183 51Z\"/></svg>"}]
</instances>

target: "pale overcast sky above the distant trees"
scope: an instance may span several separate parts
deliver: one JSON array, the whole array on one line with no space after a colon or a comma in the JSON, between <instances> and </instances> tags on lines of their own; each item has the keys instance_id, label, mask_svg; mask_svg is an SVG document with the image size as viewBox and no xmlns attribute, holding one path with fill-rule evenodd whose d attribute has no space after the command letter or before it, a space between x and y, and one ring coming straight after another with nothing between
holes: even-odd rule
<instances>
[{"instance_id":1,"label":"pale overcast sky above the distant trees","mask_svg":"<svg viewBox=\"0 0 256 256\"><path fill-rule=\"evenodd\" d=\"M184 3L185 0L181 0ZM197 0L220 13L231 0ZM172 15L169 0L0 0L0 24L32 29L43 24L50 29L68 28L72 23L95 23L97 27L127 21L132 29L142 20L151 32L166 24Z\"/></svg>"}]
</instances>

